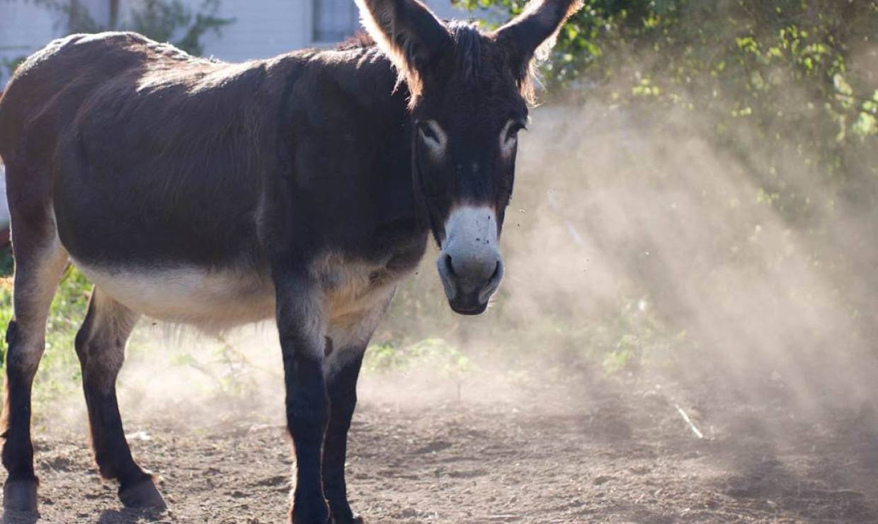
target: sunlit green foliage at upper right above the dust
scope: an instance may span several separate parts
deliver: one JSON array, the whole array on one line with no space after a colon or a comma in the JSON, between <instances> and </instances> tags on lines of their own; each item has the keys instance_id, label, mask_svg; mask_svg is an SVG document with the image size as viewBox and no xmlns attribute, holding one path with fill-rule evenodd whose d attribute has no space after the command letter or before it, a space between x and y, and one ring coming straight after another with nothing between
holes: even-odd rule
<instances>
[{"instance_id":1,"label":"sunlit green foliage at upper right above the dust","mask_svg":"<svg viewBox=\"0 0 878 524\"><path fill-rule=\"evenodd\" d=\"M458 4L496 18L525 3ZM549 97L636 104L659 118L672 106L693 111L730 151L757 143L775 158L795 157L819 170L819 182L873 205L876 34L875 0L586 0L558 33L543 75ZM808 210L773 169L766 162L751 175L801 219Z\"/></svg>"}]
</instances>

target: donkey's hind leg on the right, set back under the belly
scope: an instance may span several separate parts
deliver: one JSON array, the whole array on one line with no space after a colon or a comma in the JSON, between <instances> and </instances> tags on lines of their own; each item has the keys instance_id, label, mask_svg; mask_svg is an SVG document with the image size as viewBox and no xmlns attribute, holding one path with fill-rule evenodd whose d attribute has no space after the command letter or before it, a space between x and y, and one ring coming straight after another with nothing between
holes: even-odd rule
<instances>
[{"instance_id":1,"label":"donkey's hind leg on the right, set back under the belly","mask_svg":"<svg viewBox=\"0 0 878 524\"><path fill-rule=\"evenodd\" d=\"M76 355L83 367L91 445L101 476L119 481L119 499L125 506L164 507L153 477L131 456L116 401L116 377L138 317L95 287L83 327L76 334Z\"/></svg>"}]
</instances>

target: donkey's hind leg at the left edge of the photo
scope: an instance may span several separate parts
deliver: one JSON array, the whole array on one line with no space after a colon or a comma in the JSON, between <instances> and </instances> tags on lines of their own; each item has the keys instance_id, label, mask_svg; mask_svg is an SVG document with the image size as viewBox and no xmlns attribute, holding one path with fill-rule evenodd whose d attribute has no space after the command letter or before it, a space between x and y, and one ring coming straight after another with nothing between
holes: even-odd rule
<instances>
[{"instance_id":1,"label":"donkey's hind leg at the left edge of the photo","mask_svg":"<svg viewBox=\"0 0 878 524\"><path fill-rule=\"evenodd\" d=\"M15 280L13 319L6 330L3 464L9 472L4 507L36 510L37 477L31 442L31 386L46 343L46 319L67 265L52 213L10 199Z\"/></svg>"}]
</instances>

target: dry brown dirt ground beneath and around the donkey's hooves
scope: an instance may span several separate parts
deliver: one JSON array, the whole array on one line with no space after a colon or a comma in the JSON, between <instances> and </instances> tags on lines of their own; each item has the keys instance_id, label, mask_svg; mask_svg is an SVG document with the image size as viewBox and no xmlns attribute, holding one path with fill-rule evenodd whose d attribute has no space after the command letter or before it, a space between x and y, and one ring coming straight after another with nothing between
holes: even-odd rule
<instances>
[{"instance_id":1,"label":"dry brown dirt ground beneath and around the donkey's hooves","mask_svg":"<svg viewBox=\"0 0 878 524\"><path fill-rule=\"evenodd\" d=\"M581 391L554 384L486 398L464 388L460 400L421 403L366 391L350 436L351 505L381 523L878 522L868 409L816 423L780 393L754 407L710 395L682 406L643 381ZM169 511L123 510L97 477L84 428L50 430L36 440L39 520L7 513L4 522L284 521L283 427L244 411L187 428L188 416L127 428L135 456L161 475Z\"/></svg>"}]
</instances>

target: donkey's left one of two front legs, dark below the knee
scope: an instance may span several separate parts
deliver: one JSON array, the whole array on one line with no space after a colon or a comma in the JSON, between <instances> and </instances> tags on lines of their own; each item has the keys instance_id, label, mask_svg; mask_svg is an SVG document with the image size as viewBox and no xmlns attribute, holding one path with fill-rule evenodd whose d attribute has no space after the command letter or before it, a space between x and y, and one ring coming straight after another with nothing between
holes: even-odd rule
<instances>
[{"instance_id":1,"label":"donkey's left one of two front legs, dark below the knee","mask_svg":"<svg viewBox=\"0 0 878 524\"><path fill-rule=\"evenodd\" d=\"M286 420L296 453L296 490L290 519L326 524L320 478L328 400L323 380L325 323L320 285L305 271L276 278L277 329L284 355Z\"/></svg>"}]
</instances>

